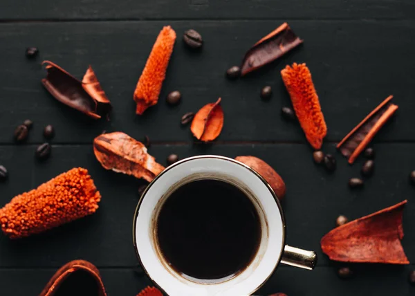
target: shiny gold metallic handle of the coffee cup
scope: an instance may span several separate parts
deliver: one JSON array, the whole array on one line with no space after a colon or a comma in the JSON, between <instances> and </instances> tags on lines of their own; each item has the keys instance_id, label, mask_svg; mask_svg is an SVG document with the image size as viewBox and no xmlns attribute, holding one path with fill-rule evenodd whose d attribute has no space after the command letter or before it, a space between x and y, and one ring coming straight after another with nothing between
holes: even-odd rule
<instances>
[{"instance_id":1,"label":"shiny gold metallic handle of the coffee cup","mask_svg":"<svg viewBox=\"0 0 415 296\"><path fill-rule=\"evenodd\" d=\"M287 265L313 270L317 265L317 254L286 245L281 262Z\"/></svg>"}]
</instances>

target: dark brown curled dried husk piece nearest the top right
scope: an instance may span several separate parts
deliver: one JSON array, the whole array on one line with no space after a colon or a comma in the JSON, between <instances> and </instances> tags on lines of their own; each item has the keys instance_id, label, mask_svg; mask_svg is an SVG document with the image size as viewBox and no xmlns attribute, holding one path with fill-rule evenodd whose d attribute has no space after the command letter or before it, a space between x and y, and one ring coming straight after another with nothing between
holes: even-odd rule
<instances>
[{"instance_id":1,"label":"dark brown curled dried husk piece nearest the top right","mask_svg":"<svg viewBox=\"0 0 415 296\"><path fill-rule=\"evenodd\" d=\"M265 64L273 62L289 50L302 44L302 42L287 23L282 24L248 50L245 57L243 57L241 75L246 75Z\"/></svg>"}]
</instances>

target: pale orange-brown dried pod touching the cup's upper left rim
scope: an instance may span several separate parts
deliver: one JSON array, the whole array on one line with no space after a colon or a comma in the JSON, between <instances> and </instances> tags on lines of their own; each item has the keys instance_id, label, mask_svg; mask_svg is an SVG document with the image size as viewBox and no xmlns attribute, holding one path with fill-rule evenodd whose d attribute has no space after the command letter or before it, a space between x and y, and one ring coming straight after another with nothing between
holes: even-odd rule
<instances>
[{"instance_id":1,"label":"pale orange-brown dried pod touching the cup's upper left rim","mask_svg":"<svg viewBox=\"0 0 415 296\"><path fill-rule=\"evenodd\" d=\"M125 133L103 133L93 140L95 157L105 169L153 181L165 169L141 142Z\"/></svg>"}]
</instances>

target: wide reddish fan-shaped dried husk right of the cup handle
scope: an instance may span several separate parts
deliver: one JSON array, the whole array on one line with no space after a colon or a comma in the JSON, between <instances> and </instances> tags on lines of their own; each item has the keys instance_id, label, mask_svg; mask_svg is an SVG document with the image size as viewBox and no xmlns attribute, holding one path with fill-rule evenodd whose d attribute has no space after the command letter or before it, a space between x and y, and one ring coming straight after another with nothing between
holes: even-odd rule
<instances>
[{"instance_id":1,"label":"wide reddish fan-shaped dried husk right of the cup handle","mask_svg":"<svg viewBox=\"0 0 415 296\"><path fill-rule=\"evenodd\" d=\"M321 240L324 254L334 261L409 264L400 244L405 203L402 201L331 230Z\"/></svg>"}]
</instances>

